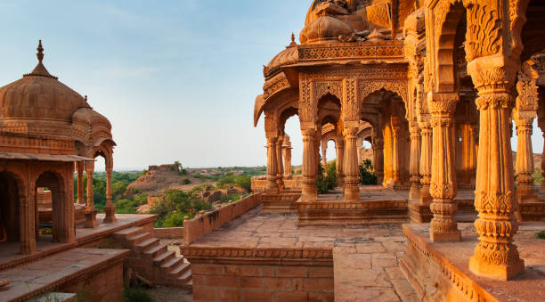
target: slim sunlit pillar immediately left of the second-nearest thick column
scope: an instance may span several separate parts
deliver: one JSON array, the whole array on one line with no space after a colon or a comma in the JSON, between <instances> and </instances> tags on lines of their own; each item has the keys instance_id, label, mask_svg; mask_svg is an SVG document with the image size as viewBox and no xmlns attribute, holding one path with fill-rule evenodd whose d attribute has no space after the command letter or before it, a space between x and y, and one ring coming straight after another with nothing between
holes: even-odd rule
<instances>
[{"instance_id":1,"label":"slim sunlit pillar immediately left of the second-nearest thick column","mask_svg":"<svg viewBox=\"0 0 545 302\"><path fill-rule=\"evenodd\" d=\"M429 205L432 197L429 193L429 185L431 184L431 166L432 166L432 135L433 130L430 123L429 115L425 115L422 121L419 122L420 135L422 138L422 148L420 152L420 204Z\"/></svg>"}]
</instances>

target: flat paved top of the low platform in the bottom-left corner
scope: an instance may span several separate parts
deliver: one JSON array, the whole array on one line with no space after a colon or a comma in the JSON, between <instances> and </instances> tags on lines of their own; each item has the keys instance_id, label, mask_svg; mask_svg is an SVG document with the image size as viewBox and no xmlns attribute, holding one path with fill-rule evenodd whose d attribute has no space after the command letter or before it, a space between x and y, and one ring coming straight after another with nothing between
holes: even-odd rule
<instances>
[{"instance_id":1,"label":"flat paved top of the low platform in the bottom-left corner","mask_svg":"<svg viewBox=\"0 0 545 302\"><path fill-rule=\"evenodd\" d=\"M2 291L0 301L20 298L30 292L44 291L52 284L69 282L82 271L109 262L115 257L126 257L126 249L70 249L51 257L0 271L0 280L8 279L9 289Z\"/></svg>"}]
</instances>

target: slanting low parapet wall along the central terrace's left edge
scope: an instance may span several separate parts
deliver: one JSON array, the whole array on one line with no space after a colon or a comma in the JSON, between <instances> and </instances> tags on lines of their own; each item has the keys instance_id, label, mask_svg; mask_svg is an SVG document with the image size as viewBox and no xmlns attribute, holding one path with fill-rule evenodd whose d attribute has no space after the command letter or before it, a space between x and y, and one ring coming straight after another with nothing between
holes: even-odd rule
<instances>
[{"instance_id":1,"label":"slanting low parapet wall along the central terrace's left edge","mask_svg":"<svg viewBox=\"0 0 545 302\"><path fill-rule=\"evenodd\" d=\"M204 216L186 220L183 222L183 242L190 244L248 212L249 209L256 208L259 204L261 204L261 193L252 194L237 202L216 208L216 210L208 212Z\"/></svg>"}]
</instances>

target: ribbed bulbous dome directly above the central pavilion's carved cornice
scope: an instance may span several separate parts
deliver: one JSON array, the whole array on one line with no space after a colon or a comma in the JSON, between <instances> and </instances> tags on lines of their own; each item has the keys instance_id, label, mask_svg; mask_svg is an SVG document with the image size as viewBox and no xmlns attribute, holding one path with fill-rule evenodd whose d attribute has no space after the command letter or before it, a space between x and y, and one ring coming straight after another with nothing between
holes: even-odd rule
<instances>
[{"instance_id":1,"label":"ribbed bulbous dome directly above the central pavilion's carved cornice","mask_svg":"<svg viewBox=\"0 0 545 302\"><path fill-rule=\"evenodd\" d=\"M352 29L342 20L331 16L321 16L305 26L299 35L301 44L338 42L339 36L349 36Z\"/></svg>"}]
</instances>

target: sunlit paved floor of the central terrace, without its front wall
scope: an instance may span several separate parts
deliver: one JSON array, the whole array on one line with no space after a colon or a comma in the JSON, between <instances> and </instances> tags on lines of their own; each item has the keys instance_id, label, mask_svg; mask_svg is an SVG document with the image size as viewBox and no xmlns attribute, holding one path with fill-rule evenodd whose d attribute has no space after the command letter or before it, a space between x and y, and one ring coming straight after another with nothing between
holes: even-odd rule
<instances>
[{"instance_id":1,"label":"sunlit paved floor of the central terrace, without its front wall","mask_svg":"<svg viewBox=\"0 0 545 302\"><path fill-rule=\"evenodd\" d=\"M192 243L237 248L332 249L338 301L418 301L398 261L401 225L297 228L297 215L260 216L259 208Z\"/></svg>"}]
</instances>

